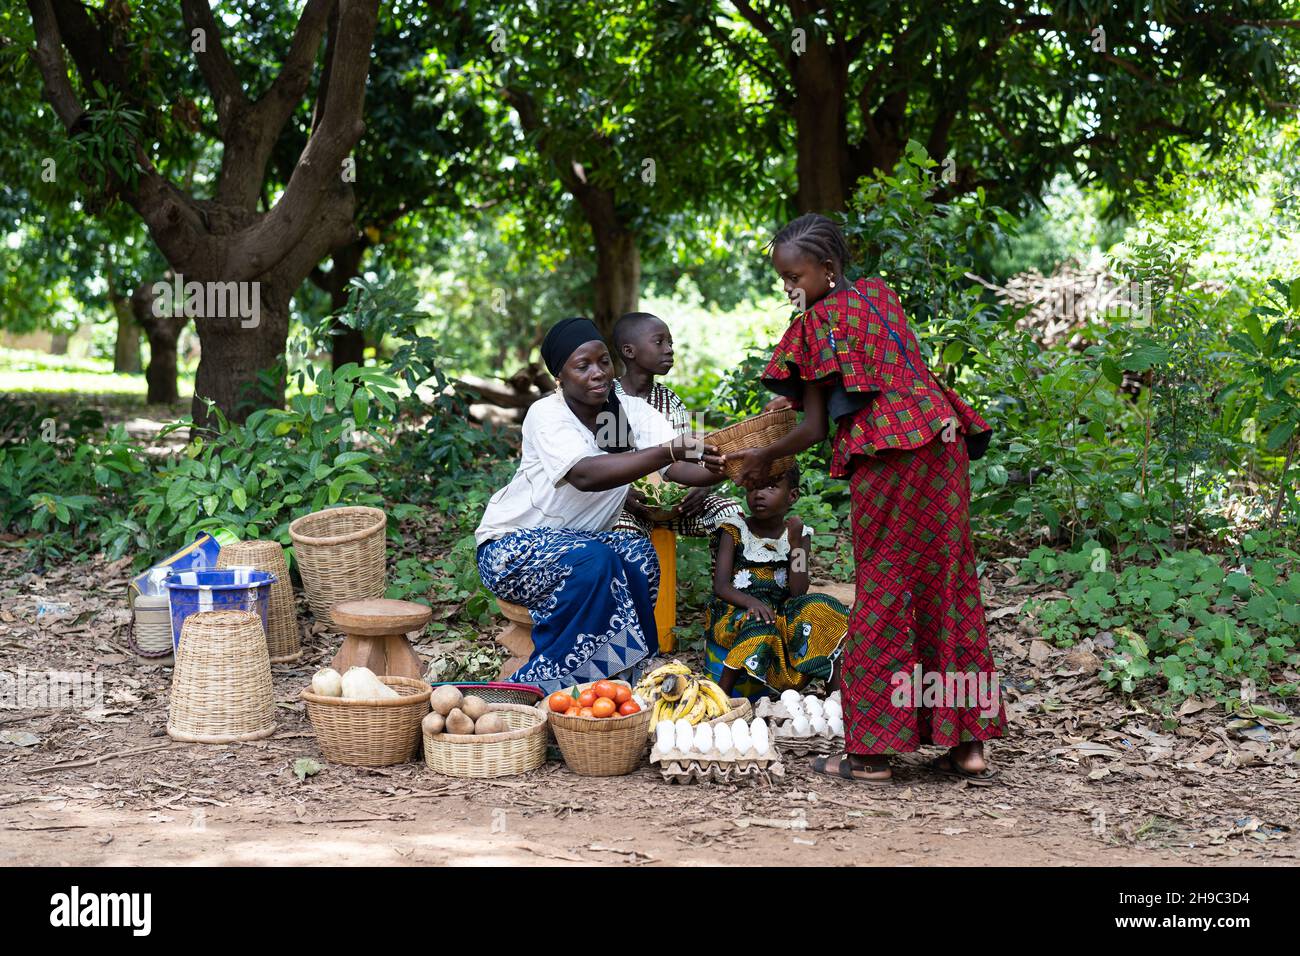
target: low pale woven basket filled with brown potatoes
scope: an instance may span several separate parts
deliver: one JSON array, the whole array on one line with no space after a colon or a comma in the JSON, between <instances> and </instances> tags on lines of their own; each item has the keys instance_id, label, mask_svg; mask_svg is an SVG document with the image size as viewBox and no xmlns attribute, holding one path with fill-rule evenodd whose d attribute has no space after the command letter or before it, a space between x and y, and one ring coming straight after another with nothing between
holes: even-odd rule
<instances>
[{"instance_id":1,"label":"low pale woven basket filled with brown potatoes","mask_svg":"<svg viewBox=\"0 0 1300 956\"><path fill-rule=\"evenodd\" d=\"M523 704L489 704L442 685L424 718L424 762L447 777L511 777L546 761L546 718Z\"/></svg>"}]
</instances>

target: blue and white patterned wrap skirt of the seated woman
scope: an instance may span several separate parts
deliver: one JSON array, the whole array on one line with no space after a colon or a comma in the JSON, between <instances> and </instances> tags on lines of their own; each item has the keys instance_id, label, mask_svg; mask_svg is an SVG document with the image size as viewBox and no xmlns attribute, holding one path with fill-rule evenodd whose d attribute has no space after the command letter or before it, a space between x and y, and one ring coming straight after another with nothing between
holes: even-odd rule
<instances>
[{"instance_id":1,"label":"blue and white patterned wrap skirt of the seated woman","mask_svg":"<svg viewBox=\"0 0 1300 956\"><path fill-rule=\"evenodd\" d=\"M488 591L533 618L533 656L514 682L551 693L612 678L656 640L659 559L641 535L515 531L478 546L478 574Z\"/></svg>"}]
</instances>

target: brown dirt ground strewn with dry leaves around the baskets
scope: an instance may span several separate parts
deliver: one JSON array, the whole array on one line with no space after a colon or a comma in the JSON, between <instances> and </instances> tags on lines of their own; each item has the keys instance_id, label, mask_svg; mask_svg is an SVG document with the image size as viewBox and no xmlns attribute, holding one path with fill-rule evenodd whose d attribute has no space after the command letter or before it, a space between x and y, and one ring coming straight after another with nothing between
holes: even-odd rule
<instances>
[{"instance_id":1,"label":"brown dirt ground strewn with dry leaves around the baskets","mask_svg":"<svg viewBox=\"0 0 1300 956\"><path fill-rule=\"evenodd\" d=\"M809 758L736 788L667 784L649 767L592 779L550 762L472 782L422 763L328 765L298 691L338 639L306 607L303 658L273 667L276 735L173 743L170 667L126 648L125 563L5 564L0 672L98 674L104 700L0 709L0 865L1260 865L1300 849L1300 730L1240 736L1212 702L1169 718L1106 691L1096 657L1034 639L1028 592L997 566L988 606L1010 735L991 747L991 786L937 777L919 753L888 788L812 774ZM70 607L38 618L42 601ZM300 757L322 770L300 780Z\"/></svg>"}]
</instances>

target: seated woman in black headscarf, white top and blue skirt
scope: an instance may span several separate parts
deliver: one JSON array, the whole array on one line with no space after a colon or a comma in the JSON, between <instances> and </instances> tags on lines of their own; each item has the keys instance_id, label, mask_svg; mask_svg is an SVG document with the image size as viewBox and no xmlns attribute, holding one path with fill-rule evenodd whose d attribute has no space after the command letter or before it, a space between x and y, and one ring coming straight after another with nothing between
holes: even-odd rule
<instances>
[{"instance_id":1,"label":"seated woman in black headscarf, white top and blue skirt","mask_svg":"<svg viewBox=\"0 0 1300 956\"><path fill-rule=\"evenodd\" d=\"M549 693L628 671L649 653L659 562L646 537L611 531L632 481L658 471L703 486L722 476L688 462L702 459L698 440L679 437L642 399L614 394L610 350L588 319L551 326L542 359L559 389L528 410L519 471L488 502L474 538L484 585L533 618L533 654L511 679Z\"/></svg>"}]
</instances>

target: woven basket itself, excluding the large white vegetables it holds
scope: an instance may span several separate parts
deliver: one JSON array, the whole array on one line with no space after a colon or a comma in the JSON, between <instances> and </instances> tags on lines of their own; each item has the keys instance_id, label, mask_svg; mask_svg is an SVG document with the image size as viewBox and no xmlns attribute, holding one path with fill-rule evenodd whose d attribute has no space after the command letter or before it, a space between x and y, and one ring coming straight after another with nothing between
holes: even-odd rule
<instances>
[{"instance_id":1,"label":"woven basket itself, excluding the large white vegetables it holds","mask_svg":"<svg viewBox=\"0 0 1300 956\"><path fill-rule=\"evenodd\" d=\"M420 722L433 688L412 678L380 678L400 693L386 700L347 700L302 692L325 760L356 767L386 767L415 760Z\"/></svg>"}]
</instances>

